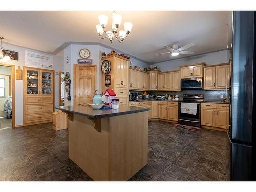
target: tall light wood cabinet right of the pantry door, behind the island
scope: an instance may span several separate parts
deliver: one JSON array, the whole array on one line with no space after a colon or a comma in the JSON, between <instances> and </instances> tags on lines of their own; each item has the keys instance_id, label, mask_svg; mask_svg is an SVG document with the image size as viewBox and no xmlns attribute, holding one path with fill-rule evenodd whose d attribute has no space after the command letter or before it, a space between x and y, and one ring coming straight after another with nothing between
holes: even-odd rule
<instances>
[{"instance_id":1,"label":"tall light wood cabinet right of the pantry door, behind the island","mask_svg":"<svg viewBox=\"0 0 256 192\"><path fill-rule=\"evenodd\" d=\"M117 54L110 54L102 60L111 63L112 69L109 75L112 78L110 79L110 84L107 85L108 88L113 89L116 93L116 98L119 99L119 105L128 105L130 60ZM106 91L105 74L102 74L101 81L102 90Z\"/></svg>"}]
</instances>

